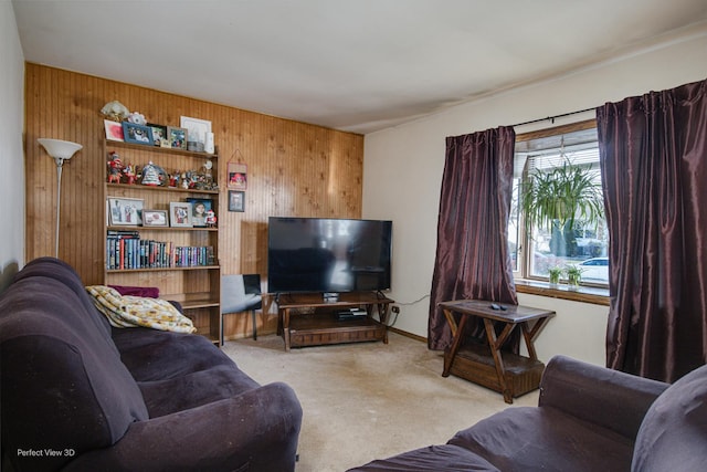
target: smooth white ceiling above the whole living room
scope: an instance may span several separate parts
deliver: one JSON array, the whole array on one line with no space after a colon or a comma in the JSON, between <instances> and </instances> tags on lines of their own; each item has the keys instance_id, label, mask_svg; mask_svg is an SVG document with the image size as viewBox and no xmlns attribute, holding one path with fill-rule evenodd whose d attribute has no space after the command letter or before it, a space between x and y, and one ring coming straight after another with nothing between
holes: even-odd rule
<instances>
[{"instance_id":1,"label":"smooth white ceiling above the whole living room","mask_svg":"<svg viewBox=\"0 0 707 472\"><path fill-rule=\"evenodd\" d=\"M707 0L12 3L29 62L361 134L707 22Z\"/></svg>"}]
</instances>

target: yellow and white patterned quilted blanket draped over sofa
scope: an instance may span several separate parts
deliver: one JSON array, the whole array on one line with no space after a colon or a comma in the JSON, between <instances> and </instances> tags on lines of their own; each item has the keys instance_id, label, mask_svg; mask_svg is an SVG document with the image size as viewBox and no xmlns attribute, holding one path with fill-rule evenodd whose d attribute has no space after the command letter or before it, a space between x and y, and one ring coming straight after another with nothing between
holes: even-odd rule
<instances>
[{"instance_id":1,"label":"yellow and white patterned quilted blanket draped over sofa","mask_svg":"<svg viewBox=\"0 0 707 472\"><path fill-rule=\"evenodd\" d=\"M179 313L179 310L166 300L120 295L115 289L106 285L88 285L86 291L112 326L141 326L176 333L197 331L191 319Z\"/></svg>"}]
</instances>

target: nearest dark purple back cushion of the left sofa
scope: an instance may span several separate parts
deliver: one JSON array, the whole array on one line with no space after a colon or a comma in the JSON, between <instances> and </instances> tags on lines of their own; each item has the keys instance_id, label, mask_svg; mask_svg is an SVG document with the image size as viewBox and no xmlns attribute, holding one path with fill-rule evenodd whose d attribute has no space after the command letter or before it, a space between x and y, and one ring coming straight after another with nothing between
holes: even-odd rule
<instances>
[{"instance_id":1,"label":"nearest dark purple back cushion of the left sofa","mask_svg":"<svg viewBox=\"0 0 707 472\"><path fill-rule=\"evenodd\" d=\"M80 454L114 444L148 418L95 307L65 282L23 274L0 297L2 450L15 469L57 469L71 460L20 450Z\"/></svg>"}]
</instances>

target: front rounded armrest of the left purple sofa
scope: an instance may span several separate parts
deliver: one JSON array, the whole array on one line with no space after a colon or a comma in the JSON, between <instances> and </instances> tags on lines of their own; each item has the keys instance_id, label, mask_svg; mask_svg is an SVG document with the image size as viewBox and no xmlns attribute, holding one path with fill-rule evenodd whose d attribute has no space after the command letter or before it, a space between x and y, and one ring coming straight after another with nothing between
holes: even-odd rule
<instances>
[{"instance_id":1,"label":"front rounded armrest of the left purple sofa","mask_svg":"<svg viewBox=\"0 0 707 472\"><path fill-rule=\"evenodd\" d=\"M268 384L189 410L135 422L113 447L66 471L293 471L302 407L285 384Z\"/></svg>"}]
</instances>

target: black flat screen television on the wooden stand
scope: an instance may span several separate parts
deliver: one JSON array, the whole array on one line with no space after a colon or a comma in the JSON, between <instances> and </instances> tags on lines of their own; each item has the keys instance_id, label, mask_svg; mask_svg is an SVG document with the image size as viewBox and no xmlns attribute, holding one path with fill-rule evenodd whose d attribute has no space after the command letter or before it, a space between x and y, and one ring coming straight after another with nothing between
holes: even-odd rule
<instances>
[{"instance_id":1,"label":"black flat screen television on the wooden stand","mask_svg":"<svg viewBox=\"0 0 707 472\"><path fill-rule=\"evenodd\" d=\"M271 217L267 291L390 289L392 221Z\"/></svg>"}]
</instances>

